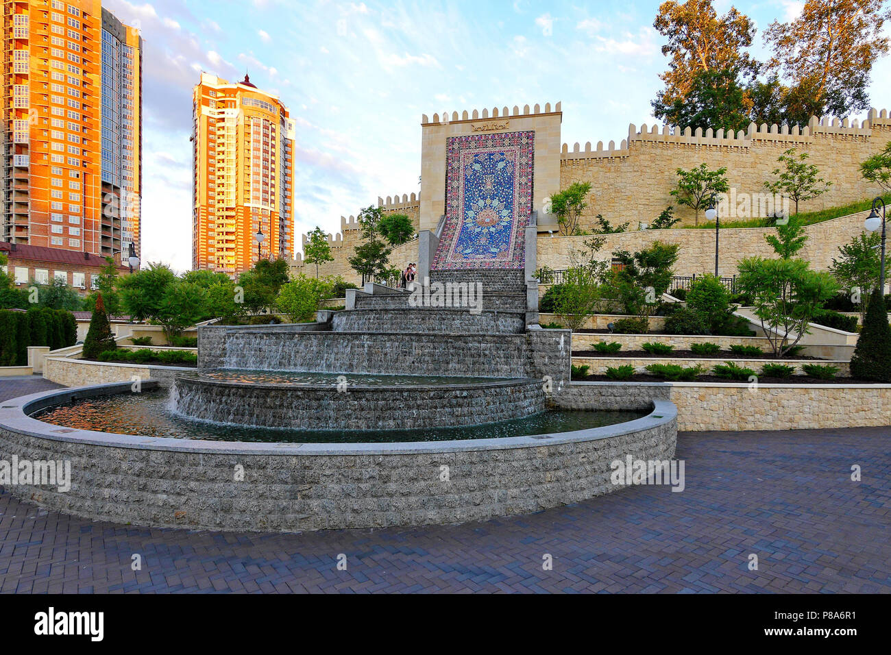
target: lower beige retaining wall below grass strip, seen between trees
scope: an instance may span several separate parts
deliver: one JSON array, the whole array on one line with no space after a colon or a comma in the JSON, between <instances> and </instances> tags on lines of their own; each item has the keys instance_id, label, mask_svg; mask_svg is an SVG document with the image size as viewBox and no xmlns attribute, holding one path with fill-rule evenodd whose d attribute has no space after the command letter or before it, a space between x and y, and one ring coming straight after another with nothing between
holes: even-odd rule
<instances>
[{"instance_id":1,"label":"lower beige retaining wall below grass strip, seen between trees","mask_svg":"<svg viewBox=\"0 0 891 655\"><path fill-rule=\"evenodd\" d=\"M801 250L801 257L808 259L813 268L827 270L832 258L838 257L838 247L850 242L863 231L863 220L869 212L834 218L805 227L808 240ZM737 273L741 259L748 257L774 257L773 249L764 241L767 234L776 233L772 227L744 227L722 229L718 271L730 277ZM652 242L676 243L681 246L674 273L678 275L713 273L715 271L715 230L634 230L618 234L603 234L605 239L601 255L610 258L614 250L634 252L650 246ZM538 267L548 266L560 270L571 266L571 253L580 250L590 236L538 235Z\"/></svg>"}]
</instances>

